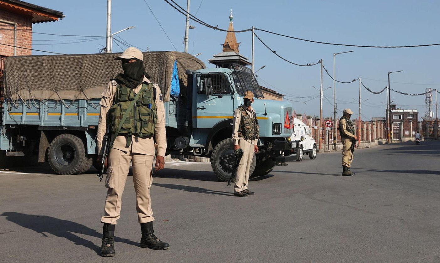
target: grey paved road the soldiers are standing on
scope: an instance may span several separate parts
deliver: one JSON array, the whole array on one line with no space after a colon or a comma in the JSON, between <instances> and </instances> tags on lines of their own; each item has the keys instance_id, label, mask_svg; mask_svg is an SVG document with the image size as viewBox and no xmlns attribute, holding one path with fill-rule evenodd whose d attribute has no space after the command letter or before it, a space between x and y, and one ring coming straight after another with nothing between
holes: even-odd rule
<instances>
[{"instance_id":1,"label":"grey paved road the soldiers are standing on","mask_svg":"<svg viewBox=\"0 0 440 263\"><path fill-rule=\"evenodd\" d=\"M0 171L4 262L440 262L440 143L319 154L231 196L210 164L169 163L152 187L154 229L171 244L142 249L132 179L114 258L98 256L106 188L94 175L47 168ZM129 177L131 178L131 177Z\"/></svg>"}]
</instances>

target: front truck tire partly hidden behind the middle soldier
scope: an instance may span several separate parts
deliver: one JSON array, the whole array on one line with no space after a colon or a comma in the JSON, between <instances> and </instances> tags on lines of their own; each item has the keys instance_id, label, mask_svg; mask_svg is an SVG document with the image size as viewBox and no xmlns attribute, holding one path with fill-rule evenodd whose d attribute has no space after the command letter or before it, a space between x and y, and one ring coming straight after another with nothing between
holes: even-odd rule
<instances>
[{"instance_id":1,"label":"front truck tire partly hidden behind the middle soldier","mask_svg":"<svg viewBox=\"0 0 440 263\"><path fill-rule=\"evenodd\" d=\"M232 166L234 162L234 142L232 138L224 139L220 141L213 149L211 155L211 166L216 174L218 180L221 182L227 182L231 178ZM257 158L255 153L250 165L249 174L253 173Z\"/></svg>"}]
</instances>

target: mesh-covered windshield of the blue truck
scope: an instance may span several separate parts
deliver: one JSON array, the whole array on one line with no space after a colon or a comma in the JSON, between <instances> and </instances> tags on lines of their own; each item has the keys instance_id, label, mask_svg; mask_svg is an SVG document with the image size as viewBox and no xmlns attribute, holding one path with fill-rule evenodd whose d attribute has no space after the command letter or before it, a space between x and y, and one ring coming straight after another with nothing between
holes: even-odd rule
<instances>
[{"instance_id":1,"label":"mesh-covered windshield of the blue truck","mask_svg":"<svg viewBox=\"0 0 440 263\"><path fill-rule=\"evenodd\" d=\"M234 79L237 93L244 96L247 90L252 91L254 97L264 97L260 85L250 68L246 66L232 64L232 79Z\"/></svg>"}]
</instances>

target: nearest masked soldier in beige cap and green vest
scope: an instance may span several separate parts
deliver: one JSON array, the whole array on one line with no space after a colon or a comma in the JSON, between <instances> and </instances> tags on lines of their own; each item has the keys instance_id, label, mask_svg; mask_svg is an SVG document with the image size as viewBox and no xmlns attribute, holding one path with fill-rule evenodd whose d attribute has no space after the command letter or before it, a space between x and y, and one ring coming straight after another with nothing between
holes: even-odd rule
<instances>
[{"instance_id":1,"label":"nearest masked soldier in beige cap and green vest","mask_svg":"<svg viewBox=\"0 0 440 263\"><path fill-rule=\"evenodd\" d=\"M120 217L122 192L130 162L133 166L136 211L142 231L140 247L160 250L169 248L169 244L154 235L150 198L154 139L158 145L156 171L161 170L165 164L165 109L161 90L145 76L143 54L137 48L128 47L115 60L121 60L124 74L118 74L108 83L99 103L99 159L102 158L101 147L107 125L111 128L110 141L114 141L113 145L110 144L105 180L108 190L104 216L101 217L104 223L101 256L115 255L114 228ZM120 124L122 119L125 121Z\"/></svg>"}]
</instances>

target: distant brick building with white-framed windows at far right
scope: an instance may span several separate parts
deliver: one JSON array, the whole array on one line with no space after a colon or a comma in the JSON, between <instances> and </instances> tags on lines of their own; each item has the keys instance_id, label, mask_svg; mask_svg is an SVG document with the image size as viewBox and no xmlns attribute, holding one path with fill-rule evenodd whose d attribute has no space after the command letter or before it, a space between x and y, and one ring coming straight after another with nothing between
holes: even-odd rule
<instances>
[{"instance_id":1,"label":"distant brick building with white-framed windows at far right","mask_svg":"<svg viewBox=\"0 0 440 263\"><path fill-rule=\"evenodd\" d=\"M393 141L407 141L410 137L414 137L419 129L417 109L400 109L392 104L389 120Z\"/></svg>"}]
</instances>

